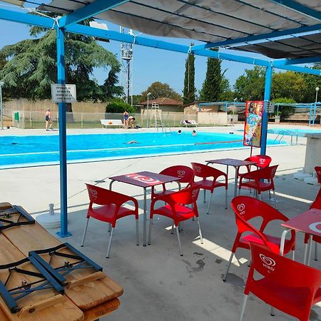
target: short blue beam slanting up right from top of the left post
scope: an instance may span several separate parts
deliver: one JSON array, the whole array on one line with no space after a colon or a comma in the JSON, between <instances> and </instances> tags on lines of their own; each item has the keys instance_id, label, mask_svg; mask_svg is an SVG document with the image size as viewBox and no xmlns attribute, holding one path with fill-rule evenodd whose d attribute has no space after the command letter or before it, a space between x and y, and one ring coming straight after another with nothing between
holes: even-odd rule
<instances>
[{"instance_id":1,"label":"short blue beam slanting up right from top of the left post","mask_svg":"<svg viewBox=\"0 0 321 321\"><path fill-rule=\"evenodd\" d=\"M73 11L71 14L67 14L59 19L59 26L64 28L76 24L79 21L91 18L97 14L101 14L103 11L115 8L121 4L126 4L129 0L96 0L91 4L81 7L80 9Z\"/></svg>"}]
</instances>

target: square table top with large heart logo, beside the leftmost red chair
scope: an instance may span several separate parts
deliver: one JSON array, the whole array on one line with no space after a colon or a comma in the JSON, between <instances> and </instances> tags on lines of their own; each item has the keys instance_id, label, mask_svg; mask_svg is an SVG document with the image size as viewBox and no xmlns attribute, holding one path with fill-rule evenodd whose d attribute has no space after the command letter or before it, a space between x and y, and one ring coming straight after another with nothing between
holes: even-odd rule
<instances>
[{"instance_id":1,"label":"square table top with large heart logo, beside the leftmost red chair","mask_svg":"<svg viewBox=\"0 0 321 321\"><path fill-rule=\"evenodd\" d=\"M111 180L117 180L118 182L128 183L131 185L141 186L143 188L161 185L163 183L174 182L180 180L178 177L162 175L152 172L138 172L126 175L119 175L110 177Z\"/></svg>"}]
</instances>

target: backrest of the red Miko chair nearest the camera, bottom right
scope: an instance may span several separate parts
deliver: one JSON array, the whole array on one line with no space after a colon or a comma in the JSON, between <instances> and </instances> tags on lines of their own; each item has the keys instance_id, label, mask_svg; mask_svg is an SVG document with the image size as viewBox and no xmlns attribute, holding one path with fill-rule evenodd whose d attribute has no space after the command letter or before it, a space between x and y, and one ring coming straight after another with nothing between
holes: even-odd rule
<instances>
[{"instance_id":1,"label":"backrest of the red Miko chair nearest the camera, bottom right","mask_svg":"<svg viewBox=\"0 0 321 321\"><path fill-rule=\"evenodd\" d=\"M252 263L249 275L251 275L251 270L257 270L266 278L267 282L270 280L274 285L271 289L271 295L273 295L277 285L287 288L301 288L304 295L307 295L307 290L315 293L319 289L321 270L272 253L263 245L251 243L250 249Z\"/></svg>"}]
</instances>

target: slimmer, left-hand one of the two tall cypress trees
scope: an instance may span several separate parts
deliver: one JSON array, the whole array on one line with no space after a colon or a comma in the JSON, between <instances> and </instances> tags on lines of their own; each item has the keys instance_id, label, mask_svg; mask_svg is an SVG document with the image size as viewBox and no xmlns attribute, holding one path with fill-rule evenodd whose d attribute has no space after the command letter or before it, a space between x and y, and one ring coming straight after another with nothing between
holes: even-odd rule
<instances>
[{"instance_id":1,"label":"slimmer, left-hand one of the two tall cypress trees","mask_svg":"<svg viewBox=\"0 0 321 321\"><path fill-rule=\"evenodd\" d=\"M193 46L193 44L190 44L190 46ZM195 56L190 53L185 63L183 103L193 103L195 101L195 93Z\"/></svg>"}]
</instances>

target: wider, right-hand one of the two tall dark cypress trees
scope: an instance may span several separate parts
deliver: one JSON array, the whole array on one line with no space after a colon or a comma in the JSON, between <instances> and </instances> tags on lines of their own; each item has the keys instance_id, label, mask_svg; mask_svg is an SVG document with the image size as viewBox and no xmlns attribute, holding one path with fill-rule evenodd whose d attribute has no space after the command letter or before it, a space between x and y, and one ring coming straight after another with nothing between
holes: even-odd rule
<instances>
[{"instance_id":1,"label":"wider, right-hand one of the two tall dark cypress trees","mask_svg":"<svg viewBox=\"0 0 321 321\"><path fill-rule=\"evenodd\" d=\"M221 62L220 59L208 57L208 68L206 70L205 81L200 90L201 101L218 101L220 95L223 93L223 74L220 68Z\"/></svg>"}]
</instances>

